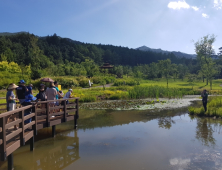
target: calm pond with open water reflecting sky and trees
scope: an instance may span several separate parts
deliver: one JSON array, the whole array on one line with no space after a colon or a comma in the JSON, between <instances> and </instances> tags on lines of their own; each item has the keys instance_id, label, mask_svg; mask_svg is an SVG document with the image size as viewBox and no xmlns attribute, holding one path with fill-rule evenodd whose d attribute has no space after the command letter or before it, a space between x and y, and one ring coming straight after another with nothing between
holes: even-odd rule
<instances>
[{"instance_id":1,"label":"calm pond with open water reflecting sky and trees","mask_svg":"<svg viewBox=\"0 0 222 170\"><path fill-rule=\"evenodd\" d=\"M187 108L81 110L78 124L57 126L55 138L39 131L34 152L26 145L14 153L15 170L222 169L222 120L190 117Z\"/></svg>"}]
</instances>

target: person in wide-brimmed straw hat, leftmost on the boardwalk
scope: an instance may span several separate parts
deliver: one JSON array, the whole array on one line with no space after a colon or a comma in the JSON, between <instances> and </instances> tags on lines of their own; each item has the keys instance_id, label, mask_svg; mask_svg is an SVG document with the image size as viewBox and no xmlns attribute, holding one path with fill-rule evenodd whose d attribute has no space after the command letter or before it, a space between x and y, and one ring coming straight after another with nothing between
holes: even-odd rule
<instances>
[{"instance_id":1,"label":"person in wide-brimmed straw hat, leftmost on the boardwalk","mask_svg":"<svg viewBox=\"0 0 222 170\"><path fill-rule=\"evenodd\" d=\"M13 90L15 90L18 86L16 86L14 83L9 84L8 88L7 88L7 93L6 93L6 102L7 102L7 111L11 111L11 110L15 110L16 107L16 102L15 100L17 100L15 98L15 95L13 93ZM10 118L13 118L14 121L16 120L16 116L15 115L11 115L10 117L8 117L7 119L7 123L9 123ZM14 126L14 129L17 129L17 126Z\"/></svg>"}]
</instances>

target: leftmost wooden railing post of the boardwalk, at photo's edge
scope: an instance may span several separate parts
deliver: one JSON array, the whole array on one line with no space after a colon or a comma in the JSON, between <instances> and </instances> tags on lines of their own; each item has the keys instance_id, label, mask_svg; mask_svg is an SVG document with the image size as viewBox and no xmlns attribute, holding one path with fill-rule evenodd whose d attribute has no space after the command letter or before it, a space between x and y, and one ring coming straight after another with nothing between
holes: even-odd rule
<instances>
[{"instance_id":1,"label":"leftmost wooden railing post of the boardwalk, at photo's edge","mask_svg":"<svg viewBox=\"0 0 222 170\"><path fill-rule=\"evenodd\" d=\"M0 139L2 139L2 144L0 145L1 160L6 160L6 129L5 129L5 117L0 118L0 127L2 127L2 132L0 133Z\"/></svg>"}]
</instances>

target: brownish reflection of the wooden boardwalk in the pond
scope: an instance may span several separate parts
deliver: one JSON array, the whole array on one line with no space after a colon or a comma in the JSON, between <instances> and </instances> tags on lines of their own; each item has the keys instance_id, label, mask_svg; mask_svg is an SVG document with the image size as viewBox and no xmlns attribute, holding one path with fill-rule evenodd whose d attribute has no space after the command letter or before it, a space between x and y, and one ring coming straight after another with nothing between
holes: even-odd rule
<instances>
[{"instance_id":1,"label":"brownish reflection of the wooden boardwalk in the pond","mask_svg":"<svg viewBox=\"0 0 222 170\"><path fill-rule=\"evenodd\" d=\"M77 131L57 134L35 142L35 150L29 146L19 148L14 155L15 170L61 170L80 159ZM1 162L1 170L7 170L7 162Z\"/></svg>"}]
</instances>

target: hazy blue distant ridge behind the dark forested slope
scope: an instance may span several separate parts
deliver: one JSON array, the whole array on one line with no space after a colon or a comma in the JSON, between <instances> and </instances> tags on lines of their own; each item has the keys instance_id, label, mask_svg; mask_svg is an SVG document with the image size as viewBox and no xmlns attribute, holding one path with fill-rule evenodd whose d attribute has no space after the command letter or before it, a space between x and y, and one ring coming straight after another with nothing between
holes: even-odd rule
<instances>
[{"instance_id":1,"label":"hazy blue distant ridge behind the dark forested slope","mask_svg":"<svg viewBox=\"0 0 222 170\"><path fill-rule=\"evenodd\" d=\"M180 52L180 51L165 51L165 50L162 50L161 48L159 49L153 49L153 48L149 48L147 46L142 46L142 47L139 47L139 48L136 48L137 50L140 50L140 51L152 51L152 52L155 52L155 53L165 53L165 54L168 54L168 53L173 53L176 57L178 58L196 58L196 54L186 54L186 53L183 53L183 52Z\"/></svg>"}]
</instances>

